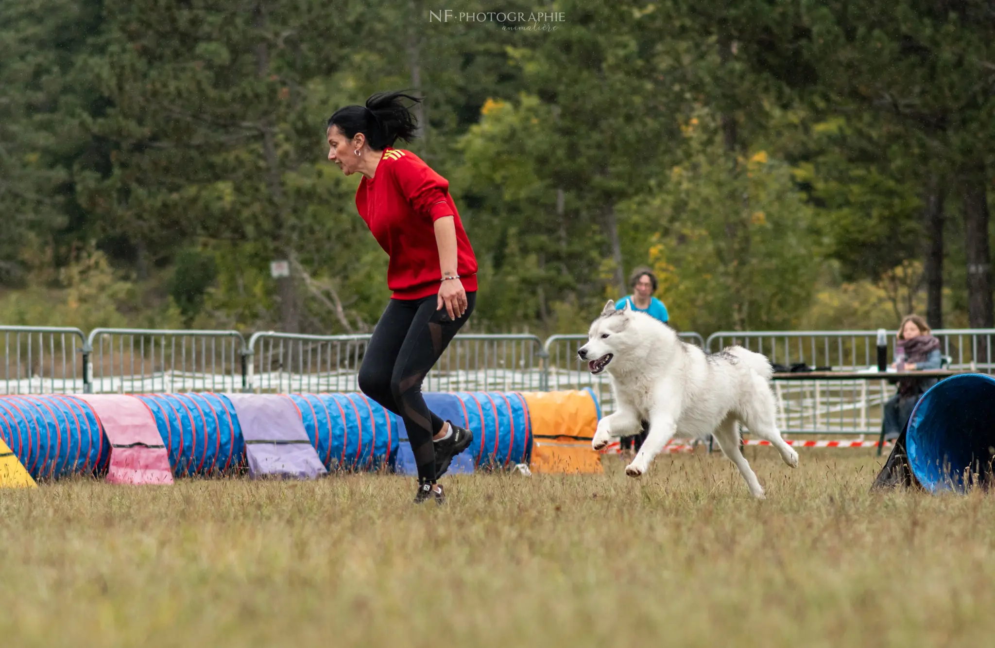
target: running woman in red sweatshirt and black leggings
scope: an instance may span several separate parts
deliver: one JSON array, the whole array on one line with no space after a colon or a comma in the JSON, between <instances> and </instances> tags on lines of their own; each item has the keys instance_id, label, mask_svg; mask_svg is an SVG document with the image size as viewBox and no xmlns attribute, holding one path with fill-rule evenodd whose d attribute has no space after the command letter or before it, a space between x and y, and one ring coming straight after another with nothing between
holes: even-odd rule
<instances>
[{"instance_id":1,"label":"running woman in red sweatshirt and black leggings","mask_svg":"<svg viewBox=\"0 0 995 648\"><path fill-rule=\"evenodd\" d=\"M477 259L449 194L449 181L409 150L415 118L402 103L420 100L378 93L366 106L338 108L328 118L328 159L346 175L362 173L356 209L390 257L390 302L373 329L359 368L359 388L404 420L418 464L415 502L445 500L437 480L473 441L443 421L422 397L422 380L474 311Z\"/></svg>"}]
</instances>

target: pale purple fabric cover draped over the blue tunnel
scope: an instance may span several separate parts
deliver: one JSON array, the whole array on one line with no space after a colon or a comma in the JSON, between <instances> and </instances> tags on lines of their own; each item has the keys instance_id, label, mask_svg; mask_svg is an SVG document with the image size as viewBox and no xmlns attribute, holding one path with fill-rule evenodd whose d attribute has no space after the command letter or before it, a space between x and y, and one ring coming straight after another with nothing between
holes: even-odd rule
<instances>
[{"instance_id":1,"label":"pale purple fabric cover draped over the blue tunnel","mask_svg":"<svg viewBox=\"0 0 995 648\"><path fill-rule=\"evenodd\" d=\"M328 471L286 395L227 394L245 440L249 476L314 479Z\"/></svg>"}]
</instances>

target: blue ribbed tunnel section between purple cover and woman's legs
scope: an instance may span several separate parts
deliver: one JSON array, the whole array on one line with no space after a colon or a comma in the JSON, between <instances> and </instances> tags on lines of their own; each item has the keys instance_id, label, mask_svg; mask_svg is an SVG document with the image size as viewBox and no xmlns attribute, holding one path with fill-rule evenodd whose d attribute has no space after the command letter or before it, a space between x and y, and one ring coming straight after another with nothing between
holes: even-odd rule
<instances>
[{"instance_id":1,"label":"blue ribbed tunnel section between purple cover and woman's legs","mask_svg":"<svg viewBox=\"0 0 995 648\"><path fill-rule=\"evenodd\" d=\"M361 393L291 394L307 438L328 472L393 465L404 424Z\"/></svg>"}]
</instances>

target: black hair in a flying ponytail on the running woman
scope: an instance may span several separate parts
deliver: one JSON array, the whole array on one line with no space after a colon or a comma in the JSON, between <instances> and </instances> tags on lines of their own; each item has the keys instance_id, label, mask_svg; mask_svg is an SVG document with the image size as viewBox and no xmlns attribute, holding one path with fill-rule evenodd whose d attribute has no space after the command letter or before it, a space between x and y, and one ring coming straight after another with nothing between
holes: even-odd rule
<instances>
[{"instance_id":1,"label":"black hair in a flying ponytail on the running woman","mask_svg":"<svg viewBox=\"0 0 995 648\"><path fill-rule=\"evenodd\" d=\"M404 93L376 93L366 100L366 106L338 108L328 117L325 127L337 126L349 139L361 132L366 135L366 141L373 150L393 146L398 137L411 141L418 122L411 109L402 102L404 99L415 104L422 101Z\"/></svg>"}]
</instances>

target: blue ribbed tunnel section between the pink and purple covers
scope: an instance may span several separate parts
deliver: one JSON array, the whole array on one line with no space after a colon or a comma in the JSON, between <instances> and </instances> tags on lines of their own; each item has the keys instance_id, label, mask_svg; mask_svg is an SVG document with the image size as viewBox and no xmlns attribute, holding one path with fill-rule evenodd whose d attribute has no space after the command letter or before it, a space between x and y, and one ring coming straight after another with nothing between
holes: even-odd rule
<instances>
[{"instance_id":1,"label":"blue ribbed tunnel section between the pink and purple covers","mask_svg":"<svg viewBox=\"0 0 995 648\"><path fill-rule=\"evenodd\" d=\"M245 464L242 427L222 394L136 395L148 407L176 477L229 473Z\"/></svg>"}]
</instances>

